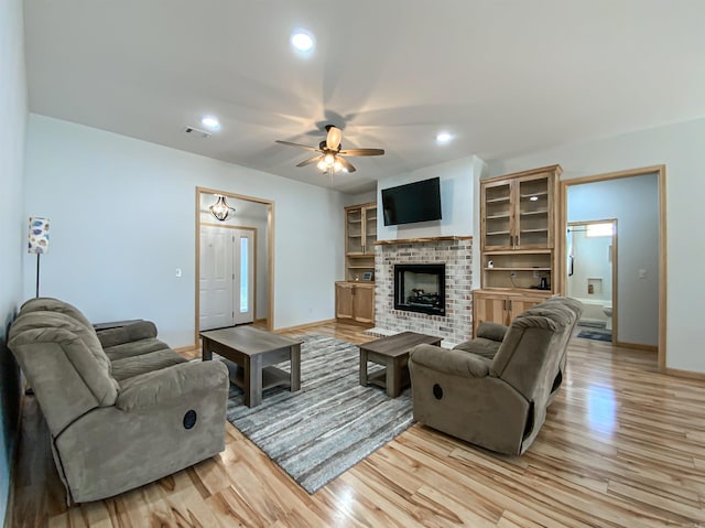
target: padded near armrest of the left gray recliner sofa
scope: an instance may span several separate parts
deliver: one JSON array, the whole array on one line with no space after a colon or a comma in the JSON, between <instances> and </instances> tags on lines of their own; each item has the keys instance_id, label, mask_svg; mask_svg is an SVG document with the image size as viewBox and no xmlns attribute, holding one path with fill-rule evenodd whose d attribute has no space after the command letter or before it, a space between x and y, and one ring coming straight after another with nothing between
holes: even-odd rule
<instances>
[{"instance_id":1,"label":"padded near armrest of the left gray recliner sofa","mask_svg":"<svg viewBox=\"0 0 705 528\"><path fill-rule=\"evenodd\" d=\"M116 407L128 412L142 410L228 385L228 367L223 362L184 363L131 378L122 386Z\"/></svg>"}]
</instances>

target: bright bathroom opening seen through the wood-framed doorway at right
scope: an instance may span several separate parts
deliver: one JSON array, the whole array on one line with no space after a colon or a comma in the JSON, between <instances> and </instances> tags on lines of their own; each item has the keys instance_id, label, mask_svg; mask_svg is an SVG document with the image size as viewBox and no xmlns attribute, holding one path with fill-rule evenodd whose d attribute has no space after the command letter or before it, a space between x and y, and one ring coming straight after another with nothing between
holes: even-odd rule
<instances>
[{"instance_id":1,"label":"bright bathroom opening seen through the wood-framed doorway at right","mask_svg":"<svg viewBox=\"0 0 705 528\"><path fill-rule=\"evenodd\" d=\"M583 303L577 337L617 343L617 219L570 222L567 295Z\"/></svg>"}]
</instances>

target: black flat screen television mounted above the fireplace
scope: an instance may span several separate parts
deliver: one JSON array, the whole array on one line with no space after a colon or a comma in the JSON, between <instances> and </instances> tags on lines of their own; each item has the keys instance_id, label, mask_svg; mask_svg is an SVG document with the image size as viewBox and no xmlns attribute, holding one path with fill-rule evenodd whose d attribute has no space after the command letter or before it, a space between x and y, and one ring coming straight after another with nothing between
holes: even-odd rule
<instances>
[{"instance_id":1,"label":"black flat screen television mounted above the fireplace","mask_svg":"<svg viewBox=\"0 0 705 528\"><path fill-rule=\"evenodd\" d=\"M382 214L386 226L440 220L441 179L382 188Z\"/></svg>"}]
</instances>

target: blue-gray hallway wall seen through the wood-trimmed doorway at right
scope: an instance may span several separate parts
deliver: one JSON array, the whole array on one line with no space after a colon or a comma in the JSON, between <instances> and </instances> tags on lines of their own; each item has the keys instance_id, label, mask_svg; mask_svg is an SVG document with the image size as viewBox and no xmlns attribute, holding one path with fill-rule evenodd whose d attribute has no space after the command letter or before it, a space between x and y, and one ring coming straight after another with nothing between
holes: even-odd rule
<instances>
[{"instance_id":1,"label":"blue-gray hallway wall seen through the wood-trimmed doorway at right","mask_svg":"<svg viewBox=\"0 0 705 528\"><path fill-rule=\"evenodd\" d=\"M571 185L568 222L617 218L617 338L659 344L657 174ZM646 270L646 277L639 277Z\"/></svg>"}]
</instances>

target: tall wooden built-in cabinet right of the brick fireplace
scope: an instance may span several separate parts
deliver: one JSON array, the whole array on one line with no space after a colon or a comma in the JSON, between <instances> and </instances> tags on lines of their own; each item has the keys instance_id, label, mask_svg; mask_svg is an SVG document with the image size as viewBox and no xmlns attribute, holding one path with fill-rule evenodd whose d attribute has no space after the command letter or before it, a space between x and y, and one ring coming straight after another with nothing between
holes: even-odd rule
<instances>
[{"instance_id":1,"label":"tall wooden built-in cabinet right of the brick fireplace","mask_svg":"<svg viewBox=\"0 0 705 528\"><path fill-rule=\"evenodd\" d=\"M480 181L481 289L473 330L513 316L557 293L560 165Z\"/></svg>"}]
</instances>

